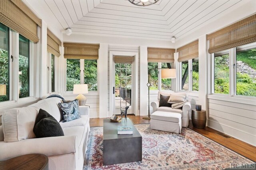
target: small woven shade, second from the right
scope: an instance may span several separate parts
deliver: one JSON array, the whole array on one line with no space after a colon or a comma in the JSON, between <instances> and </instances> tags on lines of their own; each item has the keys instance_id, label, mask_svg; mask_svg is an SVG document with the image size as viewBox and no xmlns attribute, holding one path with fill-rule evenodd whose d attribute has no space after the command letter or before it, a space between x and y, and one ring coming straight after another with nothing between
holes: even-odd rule
<instances>
[{"instance_id":1,"label":"small woven shade, second from the right","mask_svg":"<svg viewBox=\"0 0 256 170\"><path fill-rule=\"evenodd\" d=\"M198 40L178 48L177 52L179 52L178 62L198 57Z\"/></svg>"}]
</instances>

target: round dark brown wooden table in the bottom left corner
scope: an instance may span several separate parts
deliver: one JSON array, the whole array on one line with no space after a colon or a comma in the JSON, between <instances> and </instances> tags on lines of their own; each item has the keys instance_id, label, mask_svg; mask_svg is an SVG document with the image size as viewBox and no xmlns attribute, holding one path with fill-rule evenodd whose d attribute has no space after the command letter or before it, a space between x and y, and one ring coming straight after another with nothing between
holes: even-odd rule
<instances>
[{"instance_id":1,"label":"round dark brown wooden table in the bottom left corner","mask_svg":"<svg viewBox=\"0 0 256 170\"><path fill-rule=\"evenodd\" d=\"M26 154L0 161L1 170L48 170L48 157L44 154Z\"/></svg>"}]
</instances>

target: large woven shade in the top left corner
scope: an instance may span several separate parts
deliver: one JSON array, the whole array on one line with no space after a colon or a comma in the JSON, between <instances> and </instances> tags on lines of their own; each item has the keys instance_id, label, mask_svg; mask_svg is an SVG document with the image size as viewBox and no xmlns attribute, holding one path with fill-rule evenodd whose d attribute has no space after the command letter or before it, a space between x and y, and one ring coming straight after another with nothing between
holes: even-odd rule
<instances>
[{"instance_id":1,"label":"large woven shade in the top left corner","mask_svg":"<svg viewBox=\"0 0 256 170\"><path fill-rule=\"evenodd\" d=\"M42 20L22 0L0 0L0 22L34 43L39 41L37 26Z\"/></svg>"}]
</instances>

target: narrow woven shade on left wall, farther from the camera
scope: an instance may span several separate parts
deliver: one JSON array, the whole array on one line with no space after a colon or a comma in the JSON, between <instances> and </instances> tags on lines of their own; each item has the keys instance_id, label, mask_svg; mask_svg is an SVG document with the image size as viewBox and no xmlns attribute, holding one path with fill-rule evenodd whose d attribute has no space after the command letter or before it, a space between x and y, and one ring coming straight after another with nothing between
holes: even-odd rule
<instances>
[{"instance_id":1,"label":"narrow woven shade on left wall, farther from the camera","mask_svg":"<svg viewBox=\"0 0 256 170\"><path fill-rule=\"evenodd\" d=\"M47 29L47 51L60 57L60 45L61 41Z\"/></svg>"}]
</instances>

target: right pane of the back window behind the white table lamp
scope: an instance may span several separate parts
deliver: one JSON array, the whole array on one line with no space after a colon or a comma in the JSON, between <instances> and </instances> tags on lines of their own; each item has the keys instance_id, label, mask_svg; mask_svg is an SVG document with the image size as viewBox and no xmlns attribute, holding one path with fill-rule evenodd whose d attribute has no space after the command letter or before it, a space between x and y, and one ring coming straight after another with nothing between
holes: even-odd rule
<instances>
[{"instance_id":1,"label":"right pane of the back window behind the white table lamp","mask_svg":"<svg viewBox=\"0 0 256 170\"><path fill-rule=\"evenodd\" d=\"M98 90L97 60L84 60L84 84L88 84L89 91Z\"/></svg>"}]
</instances>

